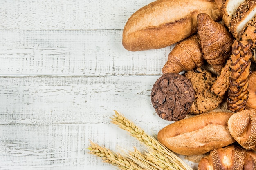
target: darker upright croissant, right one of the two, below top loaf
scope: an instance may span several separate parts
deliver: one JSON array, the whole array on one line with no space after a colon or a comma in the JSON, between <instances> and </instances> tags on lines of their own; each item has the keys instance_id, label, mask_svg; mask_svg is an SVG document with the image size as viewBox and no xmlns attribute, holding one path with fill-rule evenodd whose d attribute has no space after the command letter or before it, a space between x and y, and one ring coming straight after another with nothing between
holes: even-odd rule
<instances>
[{"instance_id":1,"label":"darker upright croissant, right one of the two, below top loaf","mask_svg":"<svg viewBox=\"0 0 256 170\"><path fill-rule=\"evenodd\" d=\"M203 58L219 73L231 55L234 38L224 25L215 22L206 13L198 14L197 19Z\"/></svg>"}]
</instances>

